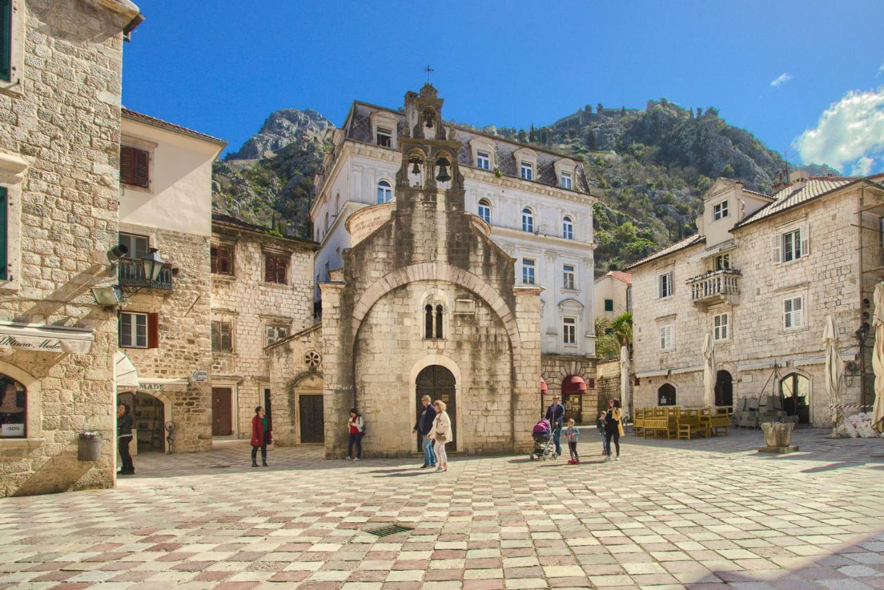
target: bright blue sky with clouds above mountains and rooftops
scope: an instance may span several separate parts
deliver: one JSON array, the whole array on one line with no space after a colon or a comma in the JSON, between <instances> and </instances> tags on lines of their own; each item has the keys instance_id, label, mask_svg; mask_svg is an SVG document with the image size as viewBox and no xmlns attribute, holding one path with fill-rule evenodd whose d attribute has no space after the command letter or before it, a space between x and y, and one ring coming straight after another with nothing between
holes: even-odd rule
<instances>
[{"instance_id":1,"label":"bright blue sky with clouds above mountains and rooftops","mask_svg":"<svg viewBox=\"0 0 884 590\"><path fill-rule=\"evenodd\" d=\"M790 160L884 170L877 1L140 6L147 20L126 44L124 104L231 149L279 108L340 124L354 99L399 107L430 64L446 118L476 126L544 125L583 104L666 97L717 107L768 147L791 146Z\"/></svg>"}]
</instances>

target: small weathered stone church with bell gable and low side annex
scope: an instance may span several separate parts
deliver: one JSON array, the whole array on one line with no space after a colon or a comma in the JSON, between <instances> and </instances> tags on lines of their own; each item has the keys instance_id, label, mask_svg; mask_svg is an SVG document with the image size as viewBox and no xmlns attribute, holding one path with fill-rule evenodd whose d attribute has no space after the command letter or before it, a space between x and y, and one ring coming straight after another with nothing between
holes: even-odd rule
<instances>
[{"instance_id":1,"label":"small weathered stone church with bell gable and low side annex","mask_svg":"<svg viewBox=\"0 0 884 590\"><path fill-rule=\"evenodd\" d=\"M514 258L465 210L462 146L443 125L442 105L430 84L406 95L395 201L347 220L343 267L319 284L321 326L269 348L275 415L300 417L277 420L282 444L298 441L295 431L309 420L302 401L321 393L328 457L346 452L351 407L366 419L372 456L415 452L411 430L424 394L447 403L452 450L530 446L542 288L516 286Z\"/></svg>"}]
</instances>

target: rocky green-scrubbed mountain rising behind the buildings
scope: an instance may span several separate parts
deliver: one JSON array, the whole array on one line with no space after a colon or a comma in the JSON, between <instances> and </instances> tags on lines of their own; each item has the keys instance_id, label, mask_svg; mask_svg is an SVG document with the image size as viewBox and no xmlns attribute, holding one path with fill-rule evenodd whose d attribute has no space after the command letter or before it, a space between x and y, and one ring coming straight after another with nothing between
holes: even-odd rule
<instances>
[{"instance_id":1,"label":"rocky green-scrubbed mountain rising behind the buildings","mask_svg":"<svg viewBox=\"0 0 884 590\"><path fill-rule=\"evenodd\" d=\"M309 237L310 187L330 149L332 126L316 111L283 109L214 170L217 211ZM768 191L786 162L713 107L684 109L666 99L644 110L587 105L549 126L485 127L487 133L543 145L583 159L592 192L596 270L621 268L696 231L700 196L715 178ZM789 166L794 169L793 166ZM813 174L834 173L827 166Z\"/></svg>"}]
</instances>

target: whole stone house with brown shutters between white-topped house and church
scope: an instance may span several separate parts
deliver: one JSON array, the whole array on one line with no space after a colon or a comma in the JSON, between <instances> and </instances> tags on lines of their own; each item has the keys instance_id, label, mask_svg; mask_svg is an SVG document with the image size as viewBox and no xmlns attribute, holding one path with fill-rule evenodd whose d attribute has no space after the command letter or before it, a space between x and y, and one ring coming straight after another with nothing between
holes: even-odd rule
<instances>
[{"instance_id":1,"label":"whole stone house with brown shutters between white-topped house and church","mask_svg":"<svg viewBox=\"0 0 884 590\"><path fill-rule=\"evenodd\" d=\"M316 244L218 213L211 223L211 433L248 438L255 406L274 414L265 347L313 325ZM280 443L291 422L273 424Z\"/></svg>"}]
</instances>

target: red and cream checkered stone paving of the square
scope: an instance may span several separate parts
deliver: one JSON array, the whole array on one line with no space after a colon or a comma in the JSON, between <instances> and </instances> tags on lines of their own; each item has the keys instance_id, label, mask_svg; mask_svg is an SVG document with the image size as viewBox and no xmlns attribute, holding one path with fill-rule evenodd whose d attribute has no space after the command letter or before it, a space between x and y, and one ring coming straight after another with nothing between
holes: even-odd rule
<instances>
[{"instance_id":1,"label":"red and cream checkered stone paving of the square","mask_svg":"<svg viewBox=\"0 0 884 590\"><path fill-rule=\"evenodd\" d=\"M135 457L117 489L0 500L0 587L884 588L884 440L623 440L602 463ZM366 440L367 450L370 441ZM366 530L414 530L378 538Z\"/></svg>"}]
</instances>

